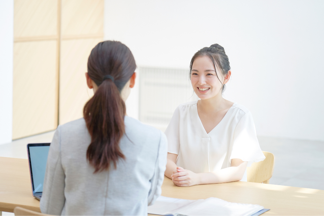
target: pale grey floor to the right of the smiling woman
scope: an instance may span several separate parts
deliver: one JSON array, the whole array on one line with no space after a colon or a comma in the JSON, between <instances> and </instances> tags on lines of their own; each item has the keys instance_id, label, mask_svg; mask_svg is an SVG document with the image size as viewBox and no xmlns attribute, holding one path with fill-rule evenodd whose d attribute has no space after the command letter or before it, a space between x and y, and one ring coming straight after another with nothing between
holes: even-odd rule
<instances>
[{"instance_id":1,"label":"pale grey floor to the right of the smiling woman","mask_svg":"<svg viewBox=\"0 0 324 216\"><path fill-rule=\"evenodd\" d=\"M324 190L324 142L258 137L262 151L275 155L270 184Z\"/></svg>"}]
</instances>

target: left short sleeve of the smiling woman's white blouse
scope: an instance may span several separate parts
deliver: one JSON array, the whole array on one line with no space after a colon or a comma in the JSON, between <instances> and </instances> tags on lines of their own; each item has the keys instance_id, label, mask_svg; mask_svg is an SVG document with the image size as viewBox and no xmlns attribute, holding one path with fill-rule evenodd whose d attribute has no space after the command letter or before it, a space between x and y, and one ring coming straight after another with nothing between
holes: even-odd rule
<instances>
[{"instance_id":1,"label":"left short sleeve of the smiling woman's white blouse","mask_svg":"<svg viewBox=\"0 0 324 216\"><path fill-rule=\"evenodd\" d=\"M173 153L178 155L180 149L179 122L180 122L180 109L179 107L177 107L164 133L168 139L168 153Z\"/></svg>"}]
</instances>

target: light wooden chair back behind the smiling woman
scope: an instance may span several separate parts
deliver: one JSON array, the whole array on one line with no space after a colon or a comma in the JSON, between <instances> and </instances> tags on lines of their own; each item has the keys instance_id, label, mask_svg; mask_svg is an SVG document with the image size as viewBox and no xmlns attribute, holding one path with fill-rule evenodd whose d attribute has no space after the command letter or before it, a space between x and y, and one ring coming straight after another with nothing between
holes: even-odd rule
<instances>
[{"instance_id":1,"label":"light wooden chair back behind the smiling woman","mask_svg":"<svg viewBox=\"0 0 324 216\"><path fill-rule=\"evenodd\" d=\"M262 151L263 152L263 151ZM269 184L272 177L275 157L270 152L263 152L265 159L247 167L248 182Z\"/></svg>"}]
</instances>

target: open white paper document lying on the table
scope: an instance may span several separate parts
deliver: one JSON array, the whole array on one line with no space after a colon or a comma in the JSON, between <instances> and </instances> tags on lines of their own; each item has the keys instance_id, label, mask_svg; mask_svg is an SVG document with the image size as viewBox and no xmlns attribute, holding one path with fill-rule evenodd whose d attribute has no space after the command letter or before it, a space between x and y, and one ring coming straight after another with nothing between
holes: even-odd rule
<instances>
[{"instance_id":1,"label":"open white paper document lying on the table","mask_svg":"<svg viewBox=\"0 0 324 216\"><path fill-rule=\"evenodd\" d=\"M260 205L227 202L223 199L176 199L160 196L147 208L159 215L252 215L264 209Z\"/></svg>"}]
</instances>

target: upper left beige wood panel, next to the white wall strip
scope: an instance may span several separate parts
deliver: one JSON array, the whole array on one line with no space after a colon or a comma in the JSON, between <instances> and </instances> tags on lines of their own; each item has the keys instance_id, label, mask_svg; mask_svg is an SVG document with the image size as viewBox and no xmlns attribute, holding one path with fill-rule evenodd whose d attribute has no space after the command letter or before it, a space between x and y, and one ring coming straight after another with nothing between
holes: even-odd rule
<instances>
[{"instance_id":1,"label":"upper left beige wood panel, next to the white wall strip","mask_svg":"<svg viewBox=\"0 0 324 216\"><path fill-rule=\"evenodd\" d=\"M14 38L57 36L58 0L15 0Z\"/></svg>"}]
</instances>

